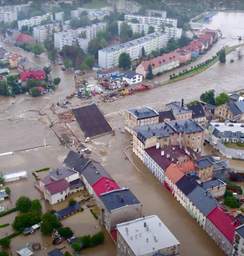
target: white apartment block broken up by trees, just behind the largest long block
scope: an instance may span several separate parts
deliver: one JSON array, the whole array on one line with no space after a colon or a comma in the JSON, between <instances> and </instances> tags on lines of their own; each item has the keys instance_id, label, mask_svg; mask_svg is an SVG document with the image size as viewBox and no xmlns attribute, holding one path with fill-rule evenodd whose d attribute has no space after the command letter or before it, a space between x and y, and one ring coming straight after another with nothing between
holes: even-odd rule
<instances>
[{"instance_id":1,"label":"white apartment block broken up by trees, just behind the largest long block","mask_svg":"<svg viewBox=\"0 0 244 256\"><path fill-rule=\"evenodd\" d=\"M118 21L118 34L120 34L120 30L122 27L122 21ZM144 31L145 34L148 34L149 27L151 25L147 23L134 23L134 22L127 22L128 26L130 26L130 29L133 31L133 33L140 33L142 34L142 31ZM161 26L154 26L155 32L161 31ZM182 29L179 29L174 26L165 26L164 30L166 34L167 41L169 41L171 38L177 39L182 36Z\"/></svg>"}]
</instances>

